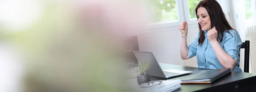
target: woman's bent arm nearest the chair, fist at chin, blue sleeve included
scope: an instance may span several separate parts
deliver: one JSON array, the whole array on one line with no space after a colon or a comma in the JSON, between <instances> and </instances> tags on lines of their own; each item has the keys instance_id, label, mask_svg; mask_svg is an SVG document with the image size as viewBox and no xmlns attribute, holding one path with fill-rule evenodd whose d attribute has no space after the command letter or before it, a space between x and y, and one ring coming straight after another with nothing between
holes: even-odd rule
<instances>
[{"instance_id":1,"label":"woman's bent arm nearest the chair, fist at chin, blue sleeve included","mask_svg":"<svg viewBox=\"0 0 256 92\"><path fill-rule=\"evenodd\" d=\"M229 35L227 39L224 41L224 48L220 46L217 41L217 31L214 28L208 31L207 36L209 42L212 46L213 51L215 52L218 61L224 68L231 68L233 69L237 63L239 63L239 48L241 47L241 39L238 34L233 34L233 37ZM228 33L227 33L228 34ZM218 54L216 54L218 53Z\"/></svg>"}]
</instances>

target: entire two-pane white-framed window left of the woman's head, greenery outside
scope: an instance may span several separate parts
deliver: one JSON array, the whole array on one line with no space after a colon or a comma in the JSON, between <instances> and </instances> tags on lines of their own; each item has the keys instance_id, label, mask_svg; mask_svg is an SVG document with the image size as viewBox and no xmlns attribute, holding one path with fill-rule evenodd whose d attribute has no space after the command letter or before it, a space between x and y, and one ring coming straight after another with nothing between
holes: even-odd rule
<instances>
[{"instance_id":1,"label":"entire two-pane white-framed window left of the woman's head, greenery outside","mask_svg":"<svg viewBox=\"0 0 256 92\"><path fill-rule=\"evenodd\" d=\"M148 20L153 28L178 26L183 21L197 24L195 8L201 0L151 0L151 17Z\"/></svg>"}]
</instances>

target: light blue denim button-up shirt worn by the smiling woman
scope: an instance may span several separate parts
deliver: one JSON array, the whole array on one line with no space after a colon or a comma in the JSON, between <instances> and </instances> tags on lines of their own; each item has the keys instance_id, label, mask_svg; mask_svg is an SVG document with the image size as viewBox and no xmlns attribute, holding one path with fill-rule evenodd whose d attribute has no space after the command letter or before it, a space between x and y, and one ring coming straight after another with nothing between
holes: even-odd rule
<instances>
[{"instance_id":1,"label":"light blue denim button-up shirt worn by the smiling woman","mask_svg":"<svg viewBox=\"0 0 256 92\"><path fill-rule=\"evenodd\" d=\"M236 72L242 72L239 65L239 49L242 45L241 38L235 30L229 30L231 36L229 33L224 32L223 40L220 44L220 46L224 49L227 54L232 56L236 60L236 66L234 67L233 71ZM193 40L189 44L189 58L192 58L194 56L197 56L197 62L199 68L207 68L207 69L221 69L224 68L221 63L218 61L215 52L212 49L212 46L207 38L207 31L204 31L205 39L202 46L198 46L198 38L200 37L200 33L198 33L198 36L195 37L195 40Z\"/></svg>"}]
</instances>

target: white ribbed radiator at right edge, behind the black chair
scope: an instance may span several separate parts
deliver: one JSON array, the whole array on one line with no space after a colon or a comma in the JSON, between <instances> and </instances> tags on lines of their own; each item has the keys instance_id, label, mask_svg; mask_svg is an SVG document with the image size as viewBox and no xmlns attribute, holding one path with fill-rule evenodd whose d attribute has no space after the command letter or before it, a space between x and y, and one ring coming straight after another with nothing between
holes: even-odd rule
<instances>
[{"instance_id":1,"label":"white ribbed radiator at right edge, behind the black chair","mask_svg":"<svg viewBox=\"0 0 256 92\"><path fill-rule=\"evenodd\" d=\"M249 72L256 72L256 25L249 26L245 33L246 40L250 40L250 68ZM251 71L250 71L251 70Z\"/></svg>"}]
</instances>

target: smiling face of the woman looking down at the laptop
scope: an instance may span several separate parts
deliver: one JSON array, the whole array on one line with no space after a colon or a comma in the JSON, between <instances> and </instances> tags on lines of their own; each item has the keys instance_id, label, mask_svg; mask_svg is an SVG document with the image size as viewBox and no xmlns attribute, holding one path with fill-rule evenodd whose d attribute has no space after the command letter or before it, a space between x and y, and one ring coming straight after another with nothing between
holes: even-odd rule
<instances>
[{"instance_id":1,"label":"smiling face of the woman looking down at the laptop","mask_svg":"<svg viewBox=\"0 0 256 92\"><path fill-rule=\"evenodd\" d=\"M201 25L202 31L209 31L210 29L212 29L210 16L204 7L198 8L197 17L198 23Z\"/></svg>"}]
</instances>

